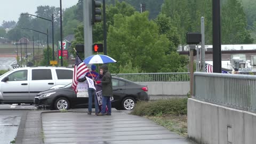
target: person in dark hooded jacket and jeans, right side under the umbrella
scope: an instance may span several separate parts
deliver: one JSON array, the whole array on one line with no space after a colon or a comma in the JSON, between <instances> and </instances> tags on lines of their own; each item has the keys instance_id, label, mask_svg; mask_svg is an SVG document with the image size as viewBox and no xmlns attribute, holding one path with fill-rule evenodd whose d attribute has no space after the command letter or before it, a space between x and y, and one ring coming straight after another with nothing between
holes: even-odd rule
<instances>
[{"instance_id":1,"label":"person in dark hooded jacket and jeans, right side under the umbrella","mask_svg":"<svg viewBox=\"0 0 256 144\"><path fill-rule=\"evenodd\" d=\"M110 72L108 71L107 65L102 65L100 67L100 70L103 70L103 77L101 81L96 81L97 84L102 85L102 109L100 113L98 113L98 116L102 115L111 115L111 102L110 98L113 97L113 87L112 87L112 76ZM107 114L106 106L108 108Z\"/></svg>"}]
</instances>

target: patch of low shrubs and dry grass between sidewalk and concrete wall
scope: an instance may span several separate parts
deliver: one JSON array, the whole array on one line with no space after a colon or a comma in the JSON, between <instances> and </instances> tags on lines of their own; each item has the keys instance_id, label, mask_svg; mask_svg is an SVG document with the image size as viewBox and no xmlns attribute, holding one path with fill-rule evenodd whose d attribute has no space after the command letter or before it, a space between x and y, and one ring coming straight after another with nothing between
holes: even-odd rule
<instances>
[{"instance_id":1,"label":"patch of low shrubs and dry grass between sidewalk and concrete wall","mask_svg":"<svg viewBox=\"0 0 256 144\"><path fill-rule=\"evenodd\" d=\"M158 125L187 137L187 98L141 101L131 114L145 116Z\"/></svg>"}]
</instances>

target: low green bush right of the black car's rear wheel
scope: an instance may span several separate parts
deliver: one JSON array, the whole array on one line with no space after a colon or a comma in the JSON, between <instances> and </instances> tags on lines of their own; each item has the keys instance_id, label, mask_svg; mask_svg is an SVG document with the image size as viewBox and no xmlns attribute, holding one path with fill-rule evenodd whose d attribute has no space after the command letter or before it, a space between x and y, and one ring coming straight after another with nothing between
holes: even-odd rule
<instances>
[{"instance_id":1,"label":"low green bush right of the black car's rear wheel","mask_svg":"<svg viewBox=\"0 0 256 144\"><path fill-rule=\"evenodd\" d=\"M131 114L139 116L187 115L187 98L141 101Z\"/></svg>"}]
</instances>

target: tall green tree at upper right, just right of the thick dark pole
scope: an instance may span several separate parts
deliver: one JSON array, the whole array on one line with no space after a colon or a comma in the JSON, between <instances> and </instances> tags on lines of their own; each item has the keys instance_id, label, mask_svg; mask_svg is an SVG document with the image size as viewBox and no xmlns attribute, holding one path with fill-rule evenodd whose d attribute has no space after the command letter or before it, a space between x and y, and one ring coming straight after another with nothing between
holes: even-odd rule
<instances>
[{"instance_id":1,"label":"tall green tree at upper right, just right of the thick dark pole","mask_svg":"<svg viewBox=\"0 0 256 144\"><path fill-rule=\"evenodd\" d=\"M222 5L221 26L223 44L249 44L253 42L250 31L246 29L247 19L239 1L228 0Z\"/></svg>"}]
</instances>

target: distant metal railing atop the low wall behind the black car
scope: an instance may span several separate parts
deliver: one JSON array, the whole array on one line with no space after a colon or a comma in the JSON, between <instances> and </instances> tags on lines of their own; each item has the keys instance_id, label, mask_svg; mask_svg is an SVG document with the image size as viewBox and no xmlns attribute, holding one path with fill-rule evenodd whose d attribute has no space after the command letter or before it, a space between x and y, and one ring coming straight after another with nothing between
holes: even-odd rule
<instances>
[{"instance_id":1,"label":"distant metal railing atop the low wall behind the black car","mask_svg":"<svg viewBox=\"0 0 256 144\"><path fill-rule=\"evenodd\" d=\"M111 74L132 82L188 82L189 73L135 73Z\"/></svg>"}]
</instances>

